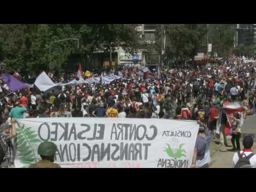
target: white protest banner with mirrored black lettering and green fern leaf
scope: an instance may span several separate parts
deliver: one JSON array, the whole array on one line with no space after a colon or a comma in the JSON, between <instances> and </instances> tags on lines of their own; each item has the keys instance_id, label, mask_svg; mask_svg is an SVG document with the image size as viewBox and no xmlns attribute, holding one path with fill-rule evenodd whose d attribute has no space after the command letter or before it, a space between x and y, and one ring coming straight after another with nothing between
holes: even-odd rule
<instances>
[{"instance_id":1,"label":"white protest banner with mirrored black lettering and green fern leaf","mask_svg":"<svg viewBox=\"0 0 256 192\"><path fill-rule=\"evenodd\" d=\"M15 166L38 162L39 144L52 141L61 167L187 168L198 127L194 121L168 119L17 119Z\"/></svg>"}]
</instances>

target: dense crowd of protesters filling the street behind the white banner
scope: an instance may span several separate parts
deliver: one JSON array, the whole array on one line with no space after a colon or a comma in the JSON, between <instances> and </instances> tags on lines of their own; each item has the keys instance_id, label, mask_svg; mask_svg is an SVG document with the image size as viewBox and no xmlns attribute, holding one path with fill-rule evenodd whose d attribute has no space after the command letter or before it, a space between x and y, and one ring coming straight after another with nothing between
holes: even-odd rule
<instances>
[{"instance_id":1,"label":"dense crowd of protesters filling the street behind the white banner","mask_svg":"<svg viewBox=\"0 0 256 192\"><path fill-rule=\"evenodd\" d=\"M110 84L68 85L46 92L36 87L20 90L3 95L0 123L10 122L10 118L36 117L183 119L201 122L214 140L217 121L222 117L220 143L228 146L227 118L221 108L227 103L239 102L245 111L232 116L231 142L234 150L241 150L239 119L256 114L255 67L255 63L232 58L209 66L155 69L144 73L143 77L137 76L138 68L124 68L119 71L123 78ZM75 75L65 75L62 81L71 78ZM1 83L4 86L3 81Z\"/></svg>"}]
</instances>

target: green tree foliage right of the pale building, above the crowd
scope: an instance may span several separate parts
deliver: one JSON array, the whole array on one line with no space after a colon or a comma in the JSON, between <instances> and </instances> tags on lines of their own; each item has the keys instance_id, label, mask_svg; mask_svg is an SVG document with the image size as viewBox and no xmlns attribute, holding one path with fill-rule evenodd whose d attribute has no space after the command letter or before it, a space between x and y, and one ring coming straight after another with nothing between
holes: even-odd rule
<instances>
[{"instance_id":1,"label":"green tree foliage right of the pale building, above the crowd","mask_svg":"<svg viewBox=\"0 0 256 192\"><path fill-rule=\"evenodd\" d=\"M166 34L165 56L169 59L194 59L197 52L206 53L207 33L212 43L212 54L228 57L234 47L234 29L227 24L168 24L164 25ZM155 49L161 52L162 30L157 30Z\"/></svg>"}]
</instances>

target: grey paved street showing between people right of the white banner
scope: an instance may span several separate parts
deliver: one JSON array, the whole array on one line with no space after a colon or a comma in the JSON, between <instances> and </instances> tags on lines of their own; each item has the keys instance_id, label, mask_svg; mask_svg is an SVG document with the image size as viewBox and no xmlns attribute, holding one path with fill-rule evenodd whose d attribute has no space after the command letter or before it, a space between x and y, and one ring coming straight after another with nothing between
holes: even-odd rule
<instances>
[{"instance_id":1,"label":"grey paved street showing between people right of the white banner","mask_svg":"<svg viewBox=\"0 0 256 192\"><path fill-rule=\"evenodd\" d=\"M256 140L256 137L255 137L255 134L256 134L256 116L250 116L247 120L244 121L244 126L243 126L243 129L242 129L242 137L244 135L247 135L247 134L253 134L254 135L254 140ZM215 145L215 143L212 143L212 151L213 152L216 152L214 150L218 150L216 149L217 145ZM231 142L230 142L230 137L229 137L229 145L231 145ZM241 146L242 145L242 138L241 138ZM230 148L227 148L227 149L231 149L232 147ZM212 152L212 154L213 154ZM254 142L254 145L253 145L253 153L256 154L256 142ZM221 151L218 151L217 153L215 153L213 156L212 156L212 163L210 164L210 167L211 168L231 168L232 167L232 159L233 159L233 155L234 155L234 152L230 152L230 151L227 151L227 152L221 152Z\"/></svg>"}]
</instances>

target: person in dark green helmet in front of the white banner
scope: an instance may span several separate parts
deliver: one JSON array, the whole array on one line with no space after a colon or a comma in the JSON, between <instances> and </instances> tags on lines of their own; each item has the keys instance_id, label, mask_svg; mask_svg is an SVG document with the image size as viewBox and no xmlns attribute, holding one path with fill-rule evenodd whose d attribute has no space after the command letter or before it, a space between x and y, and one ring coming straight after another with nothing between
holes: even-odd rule
<instances>
[{"instance_id":1,"label":"person in dark green helmet in front of the white banner","mask_svg":"<svg viewBox=\"0 0 256 192\"><path fill-rule=\"evenodd\" d=\"M50 141L42 142L38 146L38 155L42 160L36 164L30 165L29 168L61 168L60 165L53 163L57 146Z\"/></svg>"}]
</instances>

